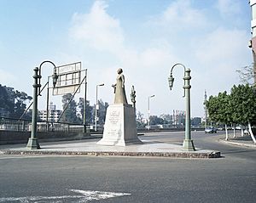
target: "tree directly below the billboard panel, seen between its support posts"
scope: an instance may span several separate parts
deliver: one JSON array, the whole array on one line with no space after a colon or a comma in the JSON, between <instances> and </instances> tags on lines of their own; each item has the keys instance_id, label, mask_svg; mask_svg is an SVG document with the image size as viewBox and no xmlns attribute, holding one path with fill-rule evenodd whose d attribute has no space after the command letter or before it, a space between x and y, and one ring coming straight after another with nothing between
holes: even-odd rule
<instances>
[{"instance_id":1,"label":"tree directly below the billboard panel, seen between its support posts","mask_svg":"<svg viewBox=\"0 0 256 203\"><path fill-rule=\"evenodd\" d=\"M62 96L62 106L65 110L67 104L67 110L63 113L61 121L70 122L70 123L81 123L81 120L77 116L77 103L72 99L72 94L67 93Z\"/></svg>"}]
</instances>

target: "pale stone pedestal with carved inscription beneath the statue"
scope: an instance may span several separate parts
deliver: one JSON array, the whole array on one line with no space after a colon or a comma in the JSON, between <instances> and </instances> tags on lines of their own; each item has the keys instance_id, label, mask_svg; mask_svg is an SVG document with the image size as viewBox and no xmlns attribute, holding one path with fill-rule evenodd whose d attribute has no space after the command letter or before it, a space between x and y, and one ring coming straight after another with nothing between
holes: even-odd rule
<instances>
[{"instance_id":1,"label":"pale stone pedestal with carved inscription beneath the statue","mask_svg":"<svg viewBox=\"0 0 256 203\"><path fill-rule=\"evenodd\" d=\"M130 104L111 104L108 106L103 138L97 144L111 146L143 144L137 138L135 111Z\"/></svg>"}]
</instances>

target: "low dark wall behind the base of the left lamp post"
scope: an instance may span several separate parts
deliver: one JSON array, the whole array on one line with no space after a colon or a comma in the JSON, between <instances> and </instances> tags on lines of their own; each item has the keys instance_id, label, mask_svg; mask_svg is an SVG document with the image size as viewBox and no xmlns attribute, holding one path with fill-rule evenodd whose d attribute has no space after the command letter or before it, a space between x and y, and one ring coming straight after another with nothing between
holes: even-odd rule
<instances>
[{"instance_id":1,"label":"low dark wall behind the base of the left lamp post","mask_svg":"<svg viewBox=\"0 0 256 203\"><path fill-rule=\"evenodd\" d=\"M26 144L31 132L0 131L0 144ZM41 142L75 140L90 137L90 133L38 132Z\"/></svg>"}]
</instances>

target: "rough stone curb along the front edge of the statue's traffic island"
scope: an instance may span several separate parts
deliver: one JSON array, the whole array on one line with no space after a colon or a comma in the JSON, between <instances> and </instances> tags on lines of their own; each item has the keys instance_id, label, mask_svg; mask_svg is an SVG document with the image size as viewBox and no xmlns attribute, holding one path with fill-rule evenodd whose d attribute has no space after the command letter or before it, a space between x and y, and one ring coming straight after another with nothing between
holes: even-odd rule
<instances>
[{"instance_id":1,"label":"rough stone curb along the front edge of the statue's traffic island","mask_svg":"<svg viewBox=\"0 0 256 203\"><path fill-rule=\"evenodd\" d=\"M44 150L0 150L0 155L106 155L106 156L142 156L142 157L169 157L169 158L219 158L219 151L211 153L196 152L111 152L111 151L44 151Z\"/></svg>"}]
</instances>

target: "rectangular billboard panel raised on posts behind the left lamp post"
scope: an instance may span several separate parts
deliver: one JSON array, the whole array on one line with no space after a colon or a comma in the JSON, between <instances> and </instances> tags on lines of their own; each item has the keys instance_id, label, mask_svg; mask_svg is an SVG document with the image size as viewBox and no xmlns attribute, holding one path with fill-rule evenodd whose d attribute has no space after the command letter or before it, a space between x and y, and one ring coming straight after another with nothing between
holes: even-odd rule
<instances>
[{"instance_id":1,"label":"rectangular billboard panel raised on posts behind the left lamp post","mask_svg":"<svg viewBox=\"0 0 256 203\"><path fill-rule=\"evenodd\" d=\"M58 80L53 95L75 93L81 82L81 67L81 62L56 67Z\"/></svg>"}]
</instances>

